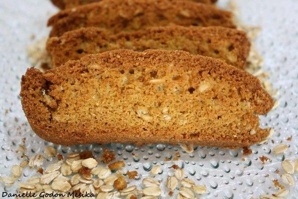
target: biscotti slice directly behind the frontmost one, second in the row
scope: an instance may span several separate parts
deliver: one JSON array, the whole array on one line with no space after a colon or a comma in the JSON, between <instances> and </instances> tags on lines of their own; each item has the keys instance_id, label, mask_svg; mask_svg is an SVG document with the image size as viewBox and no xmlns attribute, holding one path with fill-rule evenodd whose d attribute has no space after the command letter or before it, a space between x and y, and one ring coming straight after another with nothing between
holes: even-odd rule
<instances>
[{"instance_id":1,"label":"biscotti slice directly behind the frontmost one, second in the row","mask_svg":"<svg viewBox=\"0 0 298 199\"><path fill-rule=\"evenodd\" d=\"M191 54L221 58L228 64L243 69L250 42L245 32L236 29L178 25L149 27L116 35L109 34L105 29L87 27L66 32L61 37L51 37L47 42L53 67L87 54L114 49L185 50Z\"/></svg>"}]
</instances>

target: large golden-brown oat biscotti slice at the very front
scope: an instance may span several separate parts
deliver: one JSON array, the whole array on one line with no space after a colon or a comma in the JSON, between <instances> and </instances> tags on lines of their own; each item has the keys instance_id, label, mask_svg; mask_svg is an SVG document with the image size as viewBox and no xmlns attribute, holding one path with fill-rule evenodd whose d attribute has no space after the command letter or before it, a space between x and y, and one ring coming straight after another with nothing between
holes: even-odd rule
<instances>
[{"instance_id":1,"label":"large golden-brown oat biscotti slice at the very front","mask_svg":"<svg viewBox=\"0 0 298 199\"><path fill-rule=\"evenodd\" d=\"M237 148L269 129L272 99L249 73L185 51L113 50L22 77L32 129L63 145L189 143Z\"/></svg>"}]
</instances>

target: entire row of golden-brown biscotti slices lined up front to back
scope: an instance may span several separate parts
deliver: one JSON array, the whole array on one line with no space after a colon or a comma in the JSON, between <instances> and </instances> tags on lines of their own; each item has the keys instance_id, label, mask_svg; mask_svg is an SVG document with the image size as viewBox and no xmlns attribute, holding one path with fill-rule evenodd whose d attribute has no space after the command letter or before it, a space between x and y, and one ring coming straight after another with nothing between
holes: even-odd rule
<instances>
[{"instance_id":1,"label":"entire row of golden-brown biscotti slices lined up front to back","mask_svg":"<svg viewBox=\"0 0 298 199\"><path fill-rule=\"evenodd\" d=\"M21 102L32 129L63 145L266 140L271 96L245 71L246 33L215 0L52 0L52 69L30 68Z\"/></svg>"}]
</instances>

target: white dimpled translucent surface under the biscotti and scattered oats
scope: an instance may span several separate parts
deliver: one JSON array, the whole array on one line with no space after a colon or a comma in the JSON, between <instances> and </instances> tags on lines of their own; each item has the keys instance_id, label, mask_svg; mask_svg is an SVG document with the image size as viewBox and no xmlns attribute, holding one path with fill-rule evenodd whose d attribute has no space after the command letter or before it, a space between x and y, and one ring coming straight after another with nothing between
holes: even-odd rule
<instances>
[{"instance_id":1,"label":"white dimpled translucent surface under the biscotti and scattered oats","mask_svg":"<svg viewBox=\"0 0 298 199\"><path fill-rule=\"evenodd\" d=\"M223 1L221 1L224 4ZM241 150L223 150L218 148L196 148L192 154L181 151L178 146L152 145L135 147L131 145L108 145L116 152L118 160L126 162L127 170L137 170L148 176L148 170L154 164L163 168L157 179L166 179L173 173L169 169L173 162L164 162L165 157L172 158L176 151L181 157L178 163L186 169L186 177L194 179L196 184L206 184L206 199L247 199L259 198L261 194L273 194L277 189L272 180L280 179L281 161L298 158L298 0L238 0L242 21L248 25L262 27L257 40L257 49L264 58L264 71L270 72L273 88L280 94L280 106L262 117L261 125L275 128L271 141L251 147L253 154L242 156ZM15 150L26 137L27 154L42 153L45 143L30 129L19 100L20 78L30 66L26 56L26 46L37 38L48 34L47 18L55 13L48 0L0 0L0 176L9 176L13 164L20 163L20 154ZM24 124L24 125L23 125ZM287 138L292 137L292 141ZM287 143L290 149L283 155L274 155L271 149L279 143ZM56 146L60 152L94 150L99 156L105 146L93 144L85 146ZM139 158L132 153L139 156ZM265 165L258 159L267 156L272 161ZM242 162L241 159L245 158ZM51 159L49 159L51 160ZM244 169L246 167L246 169ZM280 170L280 174L274 173ZM37 175L28 168L20 179ZM266 175L269 177L265 177ZM293 175L296 185L290 189L288 199L298 198L298 173ZM141 185L141 179L131 184ZM281 182L281 181L280 181ZM164 189L163 197L168 198ZM14 193L16 186L4 187L0 183L0 193ZM175 191L177 194L178 191Z\"/></svg>"}]
</instances>

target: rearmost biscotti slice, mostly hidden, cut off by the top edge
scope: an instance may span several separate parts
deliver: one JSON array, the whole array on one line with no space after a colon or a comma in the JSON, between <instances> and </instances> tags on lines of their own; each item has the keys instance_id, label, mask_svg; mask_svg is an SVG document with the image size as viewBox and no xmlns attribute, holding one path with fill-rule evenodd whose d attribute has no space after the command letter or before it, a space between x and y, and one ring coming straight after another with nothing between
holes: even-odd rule
<instances>
[{"instance_id":1,"label":"rearmost biscotti slice, mostly hidden, cut off by the top edge","mask_svg":"<svg viewBox=\"0 0 298 199\"><path fill-rule=\"evenodd\" d=\"M79 5L84 5L87 3L92 3L92 2L98 2L101 0L51 0L54 5L59 7L60 9L66 9L66 8L74 8ZM196 2L202 2L202 3L215 3L217 0L192 0Z\"/></svg>"}]
</instances>

